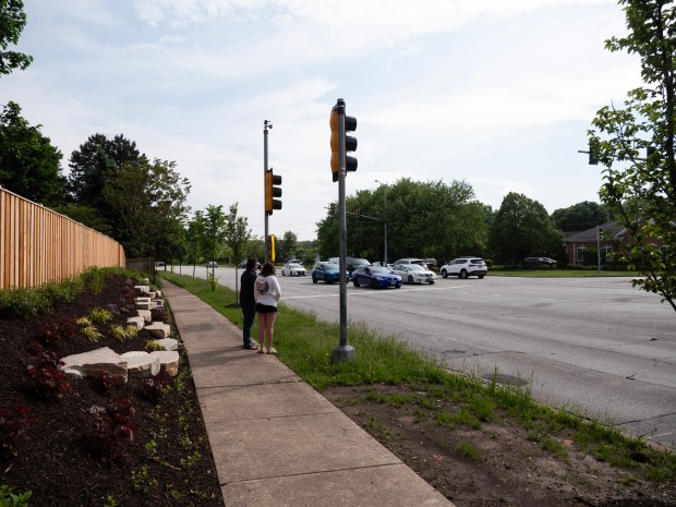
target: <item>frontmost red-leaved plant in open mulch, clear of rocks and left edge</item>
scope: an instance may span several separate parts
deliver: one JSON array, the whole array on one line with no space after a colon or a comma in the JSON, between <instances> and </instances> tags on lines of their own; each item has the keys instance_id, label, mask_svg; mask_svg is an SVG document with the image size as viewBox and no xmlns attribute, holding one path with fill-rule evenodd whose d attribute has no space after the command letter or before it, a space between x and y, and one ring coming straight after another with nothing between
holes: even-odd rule
<instances>
[{"instance_id":1,"label":"frontmost red-leaved plant in open mulch, clear of rocks and left edge","mask_svg":"<svg viewBox=\"0 0 676 507\"><path fill-rule=\"evenodd\" d=\"M92 407L92 419L85 430L89 455L102 462L124 457L126 447L138 432L135 423L136 409L129 399L117 398L108 409Z\"/></svg>"}]
</instances>

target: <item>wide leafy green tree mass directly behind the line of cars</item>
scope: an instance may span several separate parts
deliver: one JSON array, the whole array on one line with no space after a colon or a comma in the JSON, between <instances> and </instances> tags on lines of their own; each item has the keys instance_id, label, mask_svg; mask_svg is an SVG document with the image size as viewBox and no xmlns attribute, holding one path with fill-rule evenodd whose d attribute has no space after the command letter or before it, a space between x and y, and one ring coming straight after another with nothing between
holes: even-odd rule
<instances>
[{"instance_id":1,"label":"wide leafy green tree mass directly behind the line of cars","mask_svg":"<svg viewBox=\"0 0 676 507\"><path fill-rule=\"evenodd\" d=\"M346 198L346 206L349 254L384 258L384 220L388 261L410 256L446 259L480 255L485 249L486 208L474 201L474 191L464 181L446 184L402 178L376 191L359 191ZM354 216L358 209L361 219ZM337 255L337 216L327 215L317 224L317 243L323 257Z\"/></svg>"}]
</instances>

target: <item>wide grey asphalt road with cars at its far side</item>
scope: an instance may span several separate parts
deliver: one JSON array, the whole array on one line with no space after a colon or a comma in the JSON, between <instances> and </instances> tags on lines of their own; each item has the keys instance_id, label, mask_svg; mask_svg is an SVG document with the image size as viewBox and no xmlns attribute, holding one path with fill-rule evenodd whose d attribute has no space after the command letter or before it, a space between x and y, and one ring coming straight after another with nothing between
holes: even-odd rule
<instances>
[{"instance_id":1,"label":"wide grey asphalt road with cars at its far side","mask_svg":"<svg viewBox=\"0 0 676 507\"><path fill-rule=\"evenodd\" d=\"M234 269L216 271L234 288ZM338 321L337 285L278 278L283 303ZM350 283L347 304L351 322L394 334L449 369L526 385L547 406L676 448L676 312L629 278L488 274L386 290Z\"/></svg>"}]
</instances>

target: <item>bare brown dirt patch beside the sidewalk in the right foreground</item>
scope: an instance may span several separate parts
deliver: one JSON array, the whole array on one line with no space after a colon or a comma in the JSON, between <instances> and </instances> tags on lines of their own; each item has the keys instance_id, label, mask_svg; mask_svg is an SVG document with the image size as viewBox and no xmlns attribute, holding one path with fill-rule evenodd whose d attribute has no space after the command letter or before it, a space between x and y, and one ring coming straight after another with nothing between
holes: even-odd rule
<instances>
[{"instance_id":1,"label":"bare brown dirt patch beside the sidewalk in the right foreground","mask_svg":"<svg viewBox=\"0 0 676 507\"><path fill-rule=\"evenodd\" d=\"M566 457L557 458L521 427L491 422L451 430L420 405L375 401L374 393L413 394L407 385L331 387L322 394L458 507L676 505L675 484L638 480L637 470L597 461L566 435L557 443Z\"/></svg>"}]
</instances>

